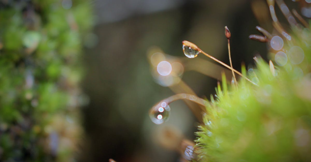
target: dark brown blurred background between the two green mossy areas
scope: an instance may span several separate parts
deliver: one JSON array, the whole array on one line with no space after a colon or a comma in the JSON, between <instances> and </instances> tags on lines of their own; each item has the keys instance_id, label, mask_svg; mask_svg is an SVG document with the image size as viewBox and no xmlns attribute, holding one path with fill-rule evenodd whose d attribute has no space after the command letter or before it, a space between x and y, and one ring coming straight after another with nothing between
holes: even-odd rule
<instances>
[{"instance_id":1,"label":"dark brown blurred background between the two green mossy areas","mask_svg":"<svg viewBox=\"0 0 311 162\"><path fill-rule=\"evenodd\" d=\"M262 2L259 5L266 4L265 0L256 2L259 1ZM178 161L178 153L159 145L156 132L171 125L194 140L198 122L182 101L170 105L168 122L162 125L151 122L149 109L174 93L153 80L146 56L148 48L158 46L167 54L184 56L181 42L188 40L229 64L224 34L224 27L228 26L232 35L233 66L237 70L241 62L253 65L253 56L257 54L267 59L266 44L248 39L248 35L258 34L253 2L93 1L97 25L93 42L84 56L87 73L83 87L90 98L89 105L83 109L88 143L83 148L84 160ZM289 6L293 4L286 2ZM276 10L279 9L276 7ZM198 57L211 61L205 56ZM215 93L215 79L194 71L185 72L182 79L199 97Z\"/></svg>"}]
</instances>

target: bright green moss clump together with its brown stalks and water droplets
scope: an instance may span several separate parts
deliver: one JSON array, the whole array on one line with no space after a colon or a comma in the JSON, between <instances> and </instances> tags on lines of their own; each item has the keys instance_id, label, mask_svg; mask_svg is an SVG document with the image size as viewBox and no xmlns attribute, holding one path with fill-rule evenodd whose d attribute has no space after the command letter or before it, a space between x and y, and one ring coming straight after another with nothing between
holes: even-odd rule
<instances>
[{"instance_id":1,"label":"bright green moss clump together with its brown stalks and water droplets","mask_svg":"<svg viewBox=\"0 0 311 162\"><path fill-rule=\"evenodd\" d=\"M262 35L249 36L252 40L268 43L268 58L271 60L267 63L259 56L254 57L257 68L246 70L242 65L239 72L232 67L231 33L227 27L225 36L228 39L230 66L188 41L183 41L183 52L193 61L174 58L159 50L152 53L151 50L149 58L155 69L152 74L156 82L177 93L151 108L151 121L155 124L164 123L169 119L169 104L184 100L201 122L194 142L185 144L188 140L184 138L178 138L176 142L174 148L185 160L311 161L310 25L296 10L292 10L301 25L286 4L276 0L291 28L291 32L285 31L276 17L274 0L267 0L267 3L277 33L270 34L257 26ZM310 8L309 3L300 3ZM254 13L256 17L262 16ZM195 58L201 53L231 72ZM209 68L206 68L206 64ZM208 71L211 68L215 68L216 73ZM210 101L197 97L182 81L183 72L189 69L221 80ZM241 78L236 78L235 74Z\"/></svg>"}]
</instances>

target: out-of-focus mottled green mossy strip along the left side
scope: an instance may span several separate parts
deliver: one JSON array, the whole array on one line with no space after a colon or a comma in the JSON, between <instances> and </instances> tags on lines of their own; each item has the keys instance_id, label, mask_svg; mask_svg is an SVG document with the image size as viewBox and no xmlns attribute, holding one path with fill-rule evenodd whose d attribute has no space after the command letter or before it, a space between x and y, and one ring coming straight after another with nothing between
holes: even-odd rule
<instances>
[{"instance_id":1,"label":"out-of-focus mottled green mossy strip along the left side","mask_svg":"<svg viewBox=\"0 0 311 162\"><path fill-rule=\"evenodd\" d=\"M0 161L74 159L92 25L89 1L0 1Z\"/></svg>"}]
</instances>

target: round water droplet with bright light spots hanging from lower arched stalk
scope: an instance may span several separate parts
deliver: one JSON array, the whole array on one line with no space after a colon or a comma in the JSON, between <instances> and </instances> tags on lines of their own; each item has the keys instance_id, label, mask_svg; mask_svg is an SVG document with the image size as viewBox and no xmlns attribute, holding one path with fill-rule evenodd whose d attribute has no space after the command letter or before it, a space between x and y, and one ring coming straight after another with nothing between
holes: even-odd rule
<instances>
[{"instance_id":1,"label":"round water droplet with bright light spots hanging from lower arched stalk","mask_svg":"<svg viewBox=\"0 0 311 162\"><path fill-rule=\"evenodd\" d=\"M151 121L155 124L162 124L169 119L170 107L166 102L162 102L152 107L149 113Z\"/></svg>"}]
</instances>

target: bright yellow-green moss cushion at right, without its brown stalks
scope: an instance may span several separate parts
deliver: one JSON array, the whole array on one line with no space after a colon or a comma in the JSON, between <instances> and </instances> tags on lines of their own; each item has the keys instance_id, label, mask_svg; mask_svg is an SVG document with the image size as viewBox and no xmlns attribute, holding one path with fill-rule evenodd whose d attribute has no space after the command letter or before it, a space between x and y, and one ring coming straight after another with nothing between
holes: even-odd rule
<instances>
[{"instance_id":1,"label":"bright yellow-green moss cushion at right, without its brown stalks","mask_svg":"<svg viewBox=\"0 0 311 162\"><path fill-rule=\"evenodd\" d=\"M257 58L257 69L242 73L258 86L241 79L226 88L223 79L216 88L197 132L200 161L311 161L311 33L293 31L283 47L287 63L275 63L275 74ZM304 53L299 64L295 48Z\"/></svg>"}]
</instances>

